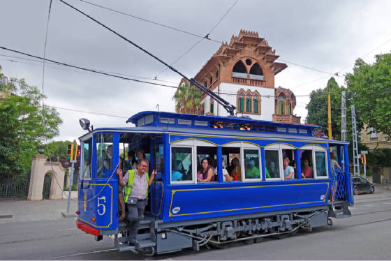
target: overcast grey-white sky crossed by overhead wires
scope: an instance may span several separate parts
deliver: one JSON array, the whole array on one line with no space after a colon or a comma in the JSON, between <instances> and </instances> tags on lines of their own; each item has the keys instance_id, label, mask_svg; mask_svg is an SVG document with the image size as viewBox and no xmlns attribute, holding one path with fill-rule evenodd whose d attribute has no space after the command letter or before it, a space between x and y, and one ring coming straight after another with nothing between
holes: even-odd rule
<instances>
[{"instance_id":1,"label":"overcast grey-white sky crossed by overhead wires","mask_svg":"<svg viewBox=\"0 0 391 261\"><path fill-rule=\"evenodd\" d=\"M121 15L80 0L66 1L145 47L168 64L189 50L200 38L128 15L205 36L235 3L235 0L89 0L128 14ZM43 57L49 3L50 0L0 0L0 46ZM257 31L276 50L280 56L277 61L288 64L288 68L276 75L276 87L291 89L296 96L301 96L314 89L324 88L331 76L327 73L341 71L341 77L335 78L340 85L344 84L344 73L352 71L353 62L358 57L372 63L375 54L390 52L390 10L391 1L388 0L239 0L210 33L209 38L220 43L229 42L231 36L237 35L240 29ZM219 47L219 43L202 40L174 67L184 75L193 77ZM36 85L42 91L42 63L15 57L31 59L0 50L3 73L8 77L25 78L29 84ZM161 84L176 85L181 80L179 75L170 70L161 73L165 69L163 64L59 0L53 0L52 3L46 58L140 80L145 80L140 77L151 80L158 75L157 79L161 81L156 82ZM168 87L129 82L64 66L45 66L45 104L117 116L57 109L64 123L55 140L73 140L82 135L84 130L78 123L82 117L90 119L94 128L100 128L131 126L125 124L128 117L144 110L157 110L156 105L159 105L161 111L174 112L174 92L175 89ZM305 105L308 102L308 97L297 97L294 113L302 117L302 123L307 116Z\"/></svg>"}]
</instances>

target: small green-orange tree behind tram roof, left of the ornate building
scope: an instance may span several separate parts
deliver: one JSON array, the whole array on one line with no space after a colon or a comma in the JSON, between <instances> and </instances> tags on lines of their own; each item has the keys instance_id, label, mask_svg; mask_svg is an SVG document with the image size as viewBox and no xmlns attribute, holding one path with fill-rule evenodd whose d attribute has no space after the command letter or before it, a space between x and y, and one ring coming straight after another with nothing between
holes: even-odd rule
<instances>
[{"instance_id":1,"label":"small green-orange tree behind tram roof, left of the ornate building","mask_svg":"<svg viewBox=\"0 0 391 261\"><path fill-rule=\"evenodd\" d=\"M178 87L172 100L175 100L175 112L202 114L201 91L188 82Z\"/></svg>"}]
</instances>

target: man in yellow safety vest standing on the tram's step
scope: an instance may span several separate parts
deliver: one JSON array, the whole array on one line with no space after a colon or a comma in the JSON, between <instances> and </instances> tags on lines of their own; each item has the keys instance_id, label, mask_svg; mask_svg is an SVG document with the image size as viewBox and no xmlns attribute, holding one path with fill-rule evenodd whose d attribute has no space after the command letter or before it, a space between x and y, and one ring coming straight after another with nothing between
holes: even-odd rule
<instances>
[{"instance_id":1,"label":"man in yellow safety vest standing on the tram's step","mask_svg":"<svg viewBox=\"0 0 391 261\"><path fill-rule=\"evenodd\" d=\"M135 239L140 218L144 217L144 209L147 204L148 186L151 186L155 178L156 170L152 171L151 177L146 172L148 161L142 159L138 162L135 170L128 170L122 177L122 170L117 169L118 181L125 188L124 202L128 209L126 218L129 221L129 245L138 247L138 241Z\"/></svg>"}]
</instances>

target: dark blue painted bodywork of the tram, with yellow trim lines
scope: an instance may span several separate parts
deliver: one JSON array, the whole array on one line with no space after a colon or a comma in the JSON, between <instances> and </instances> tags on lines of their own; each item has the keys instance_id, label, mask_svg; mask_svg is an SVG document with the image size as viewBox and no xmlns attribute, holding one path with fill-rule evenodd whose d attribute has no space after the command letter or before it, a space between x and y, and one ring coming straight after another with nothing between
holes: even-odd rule
<instances>
[{"instance_id":1,"label":"dark blue painted bodywork of the tram, with yellow trim lines","mask_svg":"<svg viewBox=\"0 0 391 261\"><path fill-rule=\"evenodd\" d=\"M146 120L148 118L148 120ZM162 124L161 118L172 118L172 124ZM178 119L190 120L191 125L181 126ZM144 124L138 125L140 122ZM195 121L206 121L207 126L196 126ZM238 124L253 124L271 126L274 131L255 131L213 128L215 121L233 122ZM323 140L312 136L316 126L305 126L300 124L279 124L272 121L256 121L253 119L242 119L235 117L215 117L189 114L175 114L170 112L140 112L129 118L127 122L136 124L135 128L101 128L94 130L80 137L83 140L95 137L98 133L113 134L113 158L119 158L118 142L120 133L149 133L155 135L156 139L151 142L163 144L163 158L165 168L163 173L158 173L149 190L149 216L160 219L163 222L186 221L198 218L212 218L228 215L253 214L257 212L276 211L283 209L297 209L307 207L318 207L327 205L330 193L332 177L325 179L298 179L286 181L265 180L265 147L271 144L289 144L297 148L295 158L300 158L300 149L305 145L316 145L327 150L327 165L330 170L330 144L338 148L344 147L344 177L346 184L350 184L350 173L348 172L348 142ZM146 124L147 123L147 124ZM279 131L278 128L286 128L286 131ZM306 133L289 133L289 128L307 130ZM217 156L221 158L221 148L229 142L249 142L260 147L262 181L250 182L224 182L222 173L219 173L217 182L203 184L170 184L170 146L181 140L203 140L211 142L217 147ZM96 142L93 141L92 169L96 170ZM153 156L152 156L153 157ZM341 158L338 161L341 165ZM113 162L116 166L118 162ZM219 163L221 170L221 163ZM151 163L153 167L153 161ZM297 170L301 173L300 167ZM91 181L79 180L79 219L100 230L112 230L118 226L118 185L117 175L111 179L95 179L92 175ZM92 185L95 184L95 185ZM105 185L108 184L108 185ZM103 188L103 190L102 190ZM87 209L84 212L84 193L87 195ZM353 203L353 195L350 186L346 185L345 199ZM105 197L103 202L102 197ZM93 200L89 200L93 198ZM98 198L101 201L98 202ZM105 205L105 214L103 213ZM96 222L91 222L91 218Z\"/></svg>"}]
</instances>

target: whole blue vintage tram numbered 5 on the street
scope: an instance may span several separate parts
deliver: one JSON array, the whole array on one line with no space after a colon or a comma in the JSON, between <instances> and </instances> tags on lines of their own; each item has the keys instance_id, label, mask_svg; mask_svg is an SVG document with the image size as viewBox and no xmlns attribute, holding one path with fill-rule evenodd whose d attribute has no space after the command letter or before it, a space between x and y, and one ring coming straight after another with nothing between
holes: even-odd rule
<instances>
[{"instance_id":1,"label":"whole blue vintage tram numbered 5 on the street","mask_svg":"<svg viewBox=\"0 0 391 261\"><path fill-rule=\"evenodd\" d=\"M78 228L96 240L114 235L119 251L153 255L281 238L351 216L348 142L313 137L316 126L169 112L140 112L126 122L135 127L98 128L80 137ZM118 219L116 169L121 154L137 149L145 151L149 173L158 174L135 248L126 244L127 224ZM341 171L330 167L330 151ZM284 174L286 157L291 179ZM215 181L197 181L202 158L214 162ZM223 165L235 167L236 180L226 181Z\"/></svg>"}]
</instances>

